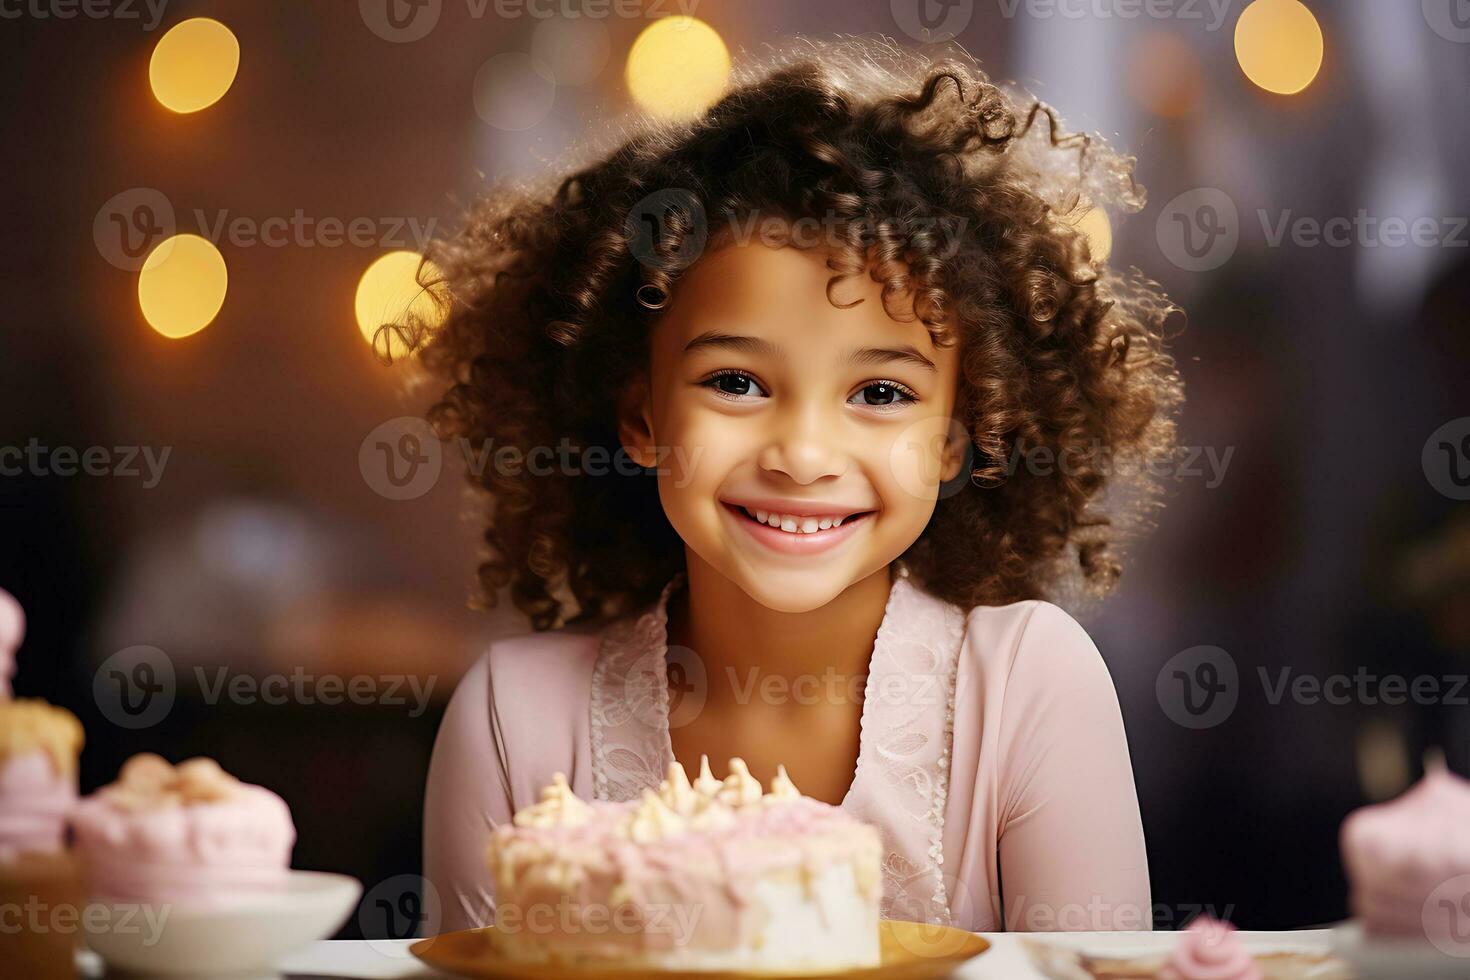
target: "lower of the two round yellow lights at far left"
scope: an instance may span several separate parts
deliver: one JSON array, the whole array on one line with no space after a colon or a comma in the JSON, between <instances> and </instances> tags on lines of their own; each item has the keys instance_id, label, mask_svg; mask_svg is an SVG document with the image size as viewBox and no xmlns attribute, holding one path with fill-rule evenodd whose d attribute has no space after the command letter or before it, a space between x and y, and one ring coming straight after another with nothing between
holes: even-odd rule
<instances>
[{"instance_id":1,"label":"lower of the two round yellow lights at far left","mask_svg":"<svg viewBox=\"0 0 1470 980\"><path fill-rule=\"evenodd\" d=\"M163 336L198 334L225 304L229 272L213 242L173 235L148 253L138 273L138 307Z\"/></svg>"}]
</instances>

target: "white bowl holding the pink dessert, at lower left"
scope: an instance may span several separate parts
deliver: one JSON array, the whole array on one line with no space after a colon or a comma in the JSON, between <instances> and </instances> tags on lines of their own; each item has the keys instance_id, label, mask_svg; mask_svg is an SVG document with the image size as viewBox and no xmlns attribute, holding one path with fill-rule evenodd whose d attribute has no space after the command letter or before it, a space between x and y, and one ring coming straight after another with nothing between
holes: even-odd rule
<instances>
[{"instance_id":1,"label":"white bowl holding the pink dessert, at lower left","mask_svg":"<svg viewBox=\"0 0 1470 980\"><path fill-rule=\"evenodd\" d=\"M141 974L269 974L285 954L328 939L357 907L357 879L291 871L269 899L222 909L93 896L84 934L109 967Z\"/></svg>"}]
</instances>

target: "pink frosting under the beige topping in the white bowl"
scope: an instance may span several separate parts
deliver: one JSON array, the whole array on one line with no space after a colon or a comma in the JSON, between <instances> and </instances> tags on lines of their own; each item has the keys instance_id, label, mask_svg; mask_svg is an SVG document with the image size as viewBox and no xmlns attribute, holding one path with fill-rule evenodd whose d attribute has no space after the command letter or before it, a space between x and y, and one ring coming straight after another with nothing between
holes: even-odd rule
<instances>
[{"instance_id":1,"label":"pink frosting under the beige topping in the white bowl","mask_svg":"<svg viewBox=\"0 0 1470 980\"><path fill-rule=\"evenodd\" d=\"M126 810L110 788L76 805L76 846L106 898L218 907L285 884L295 826L285 801L241 783L226 799Z\"/></svg>"}]
</instances>

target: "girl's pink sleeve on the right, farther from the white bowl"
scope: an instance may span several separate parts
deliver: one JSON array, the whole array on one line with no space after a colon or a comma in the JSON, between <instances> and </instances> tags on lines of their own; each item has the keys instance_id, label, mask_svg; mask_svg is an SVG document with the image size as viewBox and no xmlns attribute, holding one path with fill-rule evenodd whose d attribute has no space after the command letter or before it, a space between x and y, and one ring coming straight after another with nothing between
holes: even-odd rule
<instances>
[{"instance_id":1,"label":"girl's pink sleeve on the right, farther from the white bowl","mask_svg":"<svg viewBox=\"0 0 1470 980\"><path fill-rule=\"evenodd\" d=\"M1016 932L1148 930L1148 854L1123 714L1086 630L1038 602L1001 711L998 860Z\"/></svg>"}]
</instances>

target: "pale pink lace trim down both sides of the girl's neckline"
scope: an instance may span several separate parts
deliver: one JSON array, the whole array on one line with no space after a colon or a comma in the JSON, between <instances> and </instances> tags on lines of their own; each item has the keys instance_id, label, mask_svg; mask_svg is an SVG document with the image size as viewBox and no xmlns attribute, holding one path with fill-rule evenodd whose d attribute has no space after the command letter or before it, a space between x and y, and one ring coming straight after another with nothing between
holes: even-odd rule
<instances>
[{"instance_id":1,"label":"pale pink lace trim down both sides of the girl's neckline","mask_svg":"<svg viewBox=\"0 0 1470 980\"><path fill-rule=\"evenodd\" d=\"M592 669L597 799L637 799L673 761L669 738L667 602L679 572L647 611L603 633ZM842 808L883 835L885 918L948 926L944 811L966 616L917 588L900 563L873 642L860 746Z\"/></svg>"}]
</instances>

